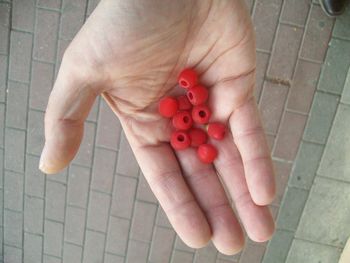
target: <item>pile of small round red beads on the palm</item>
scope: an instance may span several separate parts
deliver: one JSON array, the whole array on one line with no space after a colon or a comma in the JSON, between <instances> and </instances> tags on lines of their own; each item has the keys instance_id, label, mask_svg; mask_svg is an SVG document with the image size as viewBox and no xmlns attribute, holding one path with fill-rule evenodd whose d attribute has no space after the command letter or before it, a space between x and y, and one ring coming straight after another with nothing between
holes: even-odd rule
<instances>
[{"instance_id":1,"label":"pile of small round red beads on the palm","mask_svg":"<svg viewBox=\"0 0 350 263\"><path fill-rule=\"evenodd\" d=\"M175 150L198 147L199 159L203 163L212 163L218 152L208 143L208 135L212 139L222 140L226 127L219 122L209 122L211 111L206 104L209 92L198 83L197 73L193 69L184 69L178 83L186 90L186 95L165 97L158 107L160 115L172 118L175 130L171 134L170 144ZM201 127L203 125L206 125L206 130Z\"/></svg>"}]
</instances>

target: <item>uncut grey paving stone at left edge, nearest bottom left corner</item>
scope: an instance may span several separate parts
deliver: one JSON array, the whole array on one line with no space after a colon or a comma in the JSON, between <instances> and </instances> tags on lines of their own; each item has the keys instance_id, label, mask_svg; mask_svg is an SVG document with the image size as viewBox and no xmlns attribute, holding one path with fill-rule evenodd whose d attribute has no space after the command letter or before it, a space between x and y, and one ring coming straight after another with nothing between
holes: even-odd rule
<instances>
[{"instance_id":1,"label":"uncut grey paving stone at left edge, nearest bottom left corner","mask_svg":"<svg viewBox=\"0 0 350 263\"><path fill-rule=\"evenodd\" d=\"M10 210L4 211L4 244L22 247L22 223L22 213Z\"/></svg>"}]
</instances>

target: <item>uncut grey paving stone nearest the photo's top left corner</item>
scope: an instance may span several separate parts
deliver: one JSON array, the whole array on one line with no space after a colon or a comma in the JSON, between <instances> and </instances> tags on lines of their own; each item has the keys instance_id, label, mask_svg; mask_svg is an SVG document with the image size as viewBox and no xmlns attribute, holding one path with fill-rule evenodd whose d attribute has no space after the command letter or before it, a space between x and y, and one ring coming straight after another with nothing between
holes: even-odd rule
<instances>
[{"instance_id":1,"label":"uncut grey paving stone nearest the photo's top left corner","mask_svg":"<svg viewBox=\"0 0 350 263\"><path fill-rule=\"evenodd\" d=\"M11 31L10 79L29 82L32 41L33 36L31 34Z\"/></svg>"}]
</instances>

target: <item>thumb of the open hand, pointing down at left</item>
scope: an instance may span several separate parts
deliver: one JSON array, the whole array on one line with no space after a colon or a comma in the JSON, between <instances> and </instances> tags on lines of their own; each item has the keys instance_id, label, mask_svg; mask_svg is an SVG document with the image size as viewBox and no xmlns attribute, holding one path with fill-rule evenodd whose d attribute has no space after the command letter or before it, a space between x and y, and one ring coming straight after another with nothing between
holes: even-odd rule
<instances>
[{"instance_id":1,"label":"thumb of the open hand, pointing down at left","mask_svg":"<svg viewBox=\"0 0 350 263\"><path fill-rule=\"evenodd\" d=\"M39 169L57 173L76 155L84 132L84 121L97 97L89 74L63 59L45 114L45 146ZM91 74L90 74L91 76Z\"/></svg>"}]
</instances>

